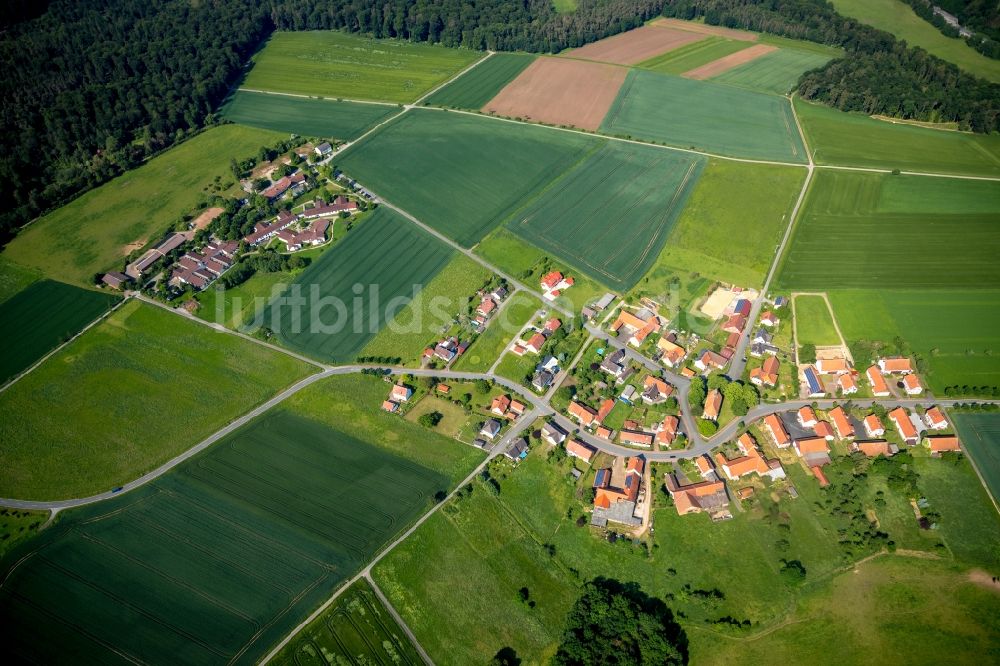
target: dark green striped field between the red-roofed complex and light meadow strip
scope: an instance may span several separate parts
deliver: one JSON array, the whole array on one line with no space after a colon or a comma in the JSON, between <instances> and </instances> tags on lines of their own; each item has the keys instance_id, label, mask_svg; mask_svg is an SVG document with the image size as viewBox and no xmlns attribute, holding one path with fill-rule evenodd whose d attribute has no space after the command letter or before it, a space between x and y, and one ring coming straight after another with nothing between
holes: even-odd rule
<instances>
[{"instance_id":1,"label":"dark green striped field between the red-roofed complex and light meadow strip","mask_svg":"<svg viewBox=\"0 0 1000 666\"><path fill-rule=\"evenodd\" d=\"M264 326L297 352L327 362L354 360L452 254L416 225L379 208L268 304ZM297 296L304 302L287 302Z\"/></svg>"}]
</instances>

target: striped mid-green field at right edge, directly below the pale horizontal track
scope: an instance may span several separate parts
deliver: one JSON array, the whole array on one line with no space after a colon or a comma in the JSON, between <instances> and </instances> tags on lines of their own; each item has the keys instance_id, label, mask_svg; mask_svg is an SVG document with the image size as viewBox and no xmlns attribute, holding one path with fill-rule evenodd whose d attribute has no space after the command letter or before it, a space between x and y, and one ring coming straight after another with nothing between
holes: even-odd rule
<instances>
[{"instance_id":1,"label":"striped mid-green field at right edge, directly below the pale horizontal track","mask_svg":"<svg viewBox=\"0 0 1000 666\"><path fill-rule=\"evenodd\" d=\"M933 202L925 210L926 202ZM1000 286L1000 183L819 171L778 274L801 290Z\"/></svg>"}]
</instances>

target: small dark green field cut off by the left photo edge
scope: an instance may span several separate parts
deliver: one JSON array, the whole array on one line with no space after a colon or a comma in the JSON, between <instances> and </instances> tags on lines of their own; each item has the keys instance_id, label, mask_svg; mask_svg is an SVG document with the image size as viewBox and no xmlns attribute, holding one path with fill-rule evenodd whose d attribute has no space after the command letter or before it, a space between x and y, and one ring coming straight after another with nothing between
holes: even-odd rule
<instances>
[{"instance_id":1,"label":"small dark green field cut off by the left photo edge","mask_svg":"<svg viewBox=\"0 0 1000 666\"><path fill-rule=\"evenodd\" d=\"M27 370L119 300L117 294L41 280L0 303L0 336L8 347L0 358L0 383Z\"/></svg>"}]
</instances>

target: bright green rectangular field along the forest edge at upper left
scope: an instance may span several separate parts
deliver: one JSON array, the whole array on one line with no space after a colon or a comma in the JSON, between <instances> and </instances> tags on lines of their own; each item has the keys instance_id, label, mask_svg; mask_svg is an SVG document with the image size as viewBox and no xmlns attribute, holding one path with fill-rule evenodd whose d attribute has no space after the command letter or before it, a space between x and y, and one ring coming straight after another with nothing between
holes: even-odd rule
<instances>
[{"instance_id":1,"label":"bright green rectangular field along the forest edge at upper left","mask_svg":"<svg viewBox=\"0 0 1000 666\"><path fill-rule=\"evenodd\" d=\"M483 54L336 30L275 32L243 87L380 102L413 102Z\"/></svg>"}]
</instances>

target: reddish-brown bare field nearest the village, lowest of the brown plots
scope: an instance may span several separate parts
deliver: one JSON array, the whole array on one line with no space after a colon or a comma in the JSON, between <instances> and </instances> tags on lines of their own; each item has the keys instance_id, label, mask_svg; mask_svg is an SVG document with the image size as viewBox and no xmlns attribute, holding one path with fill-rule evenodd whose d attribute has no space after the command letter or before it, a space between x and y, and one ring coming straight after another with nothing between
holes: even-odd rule
<instances>
[{"instance_id":1,"label":"reddish-brown bare field nearest the village, lowest of the brown plots","mask_svg":"<svg viewBox=\"0 0 1000 666\"><path fill-rule=\"evenodd\" d=\"M539 58L490 100L483 111L596 130L627 74L623 67Z\"/></svg>"}]
</instances>

